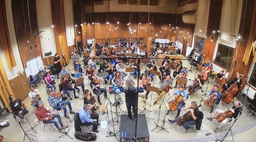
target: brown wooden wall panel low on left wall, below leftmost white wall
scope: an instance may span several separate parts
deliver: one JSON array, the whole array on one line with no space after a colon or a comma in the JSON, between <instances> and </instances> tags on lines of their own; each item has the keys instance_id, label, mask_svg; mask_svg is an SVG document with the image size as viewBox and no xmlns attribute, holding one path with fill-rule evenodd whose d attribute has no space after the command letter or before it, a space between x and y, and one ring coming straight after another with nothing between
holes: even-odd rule
<instances>
[{"instance_id":1,"label":"brown wooden wall panel low on left wall, below leftmost white wall","mask_svg":"<svg viewBox=\"0 0 256 142\"><path fill-rule=\"evenodd\" d=\"M17 95L17 99L21 100L25 100L26 98L28 98L28 93L30 91L26 72L24 71L23 74L23 76L19 75L14 79L9 80L13 92Z\"/></svg>"}]
</instances>

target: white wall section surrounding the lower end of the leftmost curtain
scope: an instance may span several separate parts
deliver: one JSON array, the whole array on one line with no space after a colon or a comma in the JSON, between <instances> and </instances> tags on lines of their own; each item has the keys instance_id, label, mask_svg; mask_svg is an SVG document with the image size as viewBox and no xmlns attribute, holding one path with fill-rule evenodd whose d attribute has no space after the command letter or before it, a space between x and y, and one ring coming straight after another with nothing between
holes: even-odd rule
<instances>
[{"instance_id":1,"label":"white wall section surrounding the lower end of the leftmost curtain","mask_svg":"<svg viewBox=\"0 0 256 142\"><path fill-rule=\"evenodd\" d=\"M15 58L17 66L14 66L11 71L9 70L8 65L6 63L6 57L4 55L4 51L2 50L1 47L0 47L0 58L2 60L4 70L6 72L8 80L11 80L18 76L18 71L20 71L20 72L24 71L22 62L21 62L21 58L20 58L19 47L17 44L16 35L15 35L15 28L14 28L14 23L13 23L13 13L12 13L12 9L11 9L11 0L6 0L6 16L7 16L7 24L8 24L11 46L13 49L13 54L14 54L14 58Z\"/></svg>"}]
</instances>

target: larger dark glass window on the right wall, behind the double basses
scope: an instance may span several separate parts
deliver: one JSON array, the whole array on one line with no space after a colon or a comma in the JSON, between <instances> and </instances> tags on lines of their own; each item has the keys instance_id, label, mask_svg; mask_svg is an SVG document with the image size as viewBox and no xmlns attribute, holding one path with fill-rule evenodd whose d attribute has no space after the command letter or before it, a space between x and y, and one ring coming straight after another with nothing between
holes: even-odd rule
<instances>
[{"instance_id":1,"label":"larger dark glass window on the right wall, behind the double basses","mask_svg":"<svg viewBox=\"0 0 256 142\"><path fill-rule=\"evenodd\" d=\"M215 63L223 66L226 69L230 68L233 52L234 48L223 44L218 44Z\"/></svg>"}]
</instances>

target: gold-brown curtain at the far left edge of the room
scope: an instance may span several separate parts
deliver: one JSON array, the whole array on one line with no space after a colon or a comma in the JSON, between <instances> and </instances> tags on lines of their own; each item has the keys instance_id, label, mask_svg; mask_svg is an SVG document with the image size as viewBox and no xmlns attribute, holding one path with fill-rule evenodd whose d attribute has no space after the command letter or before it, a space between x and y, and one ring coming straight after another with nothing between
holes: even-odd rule
<instances>
[{"instance_id":1,"label":"gold-brown curtain at the far left edge of the room","mask_svg":"<svg viewBox=\"0 0 256 142\"><path fill-rule=\"evenodd\" d=\"M11 47L9 37L5 0L0 0L0 47L4 50L9 70L12 70L13 66L17 66L17 64L13 55L13 49Z\"/></svg>"}]
</instances>

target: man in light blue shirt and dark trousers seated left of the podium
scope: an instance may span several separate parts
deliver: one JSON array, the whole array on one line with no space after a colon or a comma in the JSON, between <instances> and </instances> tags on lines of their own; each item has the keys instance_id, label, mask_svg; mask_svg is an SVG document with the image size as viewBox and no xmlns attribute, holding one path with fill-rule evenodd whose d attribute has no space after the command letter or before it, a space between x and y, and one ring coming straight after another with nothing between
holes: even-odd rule
<instances>
[{"instance_id":1,"label":"man in light blue shirt and dark trousers seated left of the podium","mask_svg":"<svg viewBox=\"0 0 256 142\"><path fill-rule=\"evenodd\" d=\"M83 124L90 124L93 125L93 132L98 133L98 123L99 121L99 114L90 114L89 110L95 107L95 105L89 106L88 104L83 105L83 107L79 110L79 117Z\"/></svg>"}]
</instances>

